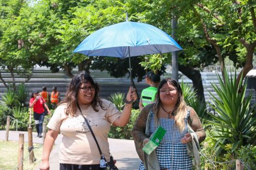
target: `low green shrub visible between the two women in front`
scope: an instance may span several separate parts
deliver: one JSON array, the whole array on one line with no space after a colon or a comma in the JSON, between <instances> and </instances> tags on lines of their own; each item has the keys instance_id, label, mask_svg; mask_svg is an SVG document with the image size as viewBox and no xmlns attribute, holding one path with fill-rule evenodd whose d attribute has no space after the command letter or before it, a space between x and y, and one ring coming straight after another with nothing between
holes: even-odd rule
<instances>
[{"instance_id":1,"label":"low green shrub visible between the two women in front","mask_svg":"<svg viewBox=\"0 0 256 170\"><path fill-rule=\"evenodd\" d=\"M139 110L132 109L130 121L125 127L111 126L109 137L115 139L132 139L131 131L139 112Z\"/></svg>"}]
</instances>

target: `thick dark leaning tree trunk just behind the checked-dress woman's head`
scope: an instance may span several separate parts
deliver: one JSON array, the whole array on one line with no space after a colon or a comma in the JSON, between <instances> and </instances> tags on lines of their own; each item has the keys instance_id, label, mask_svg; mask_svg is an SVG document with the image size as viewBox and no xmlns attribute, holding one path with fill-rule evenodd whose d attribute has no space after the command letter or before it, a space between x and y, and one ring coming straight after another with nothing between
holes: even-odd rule
<instances>
[{"instance_id":1,"label":"thick dark leaning tree trunk just behind the checked-dress woman's head","mask_svg":"<svg viewBox=\"0 0 256 170\"><path fill-rule=\"evenodd\" d=\"M193 86L197 92L198 98L205 102L204 98L204 87L202 82L202 76L199 70L191 66L184 66L179 64L179 70L190 80L193 81Z\"/></svg>"}]
</instances>

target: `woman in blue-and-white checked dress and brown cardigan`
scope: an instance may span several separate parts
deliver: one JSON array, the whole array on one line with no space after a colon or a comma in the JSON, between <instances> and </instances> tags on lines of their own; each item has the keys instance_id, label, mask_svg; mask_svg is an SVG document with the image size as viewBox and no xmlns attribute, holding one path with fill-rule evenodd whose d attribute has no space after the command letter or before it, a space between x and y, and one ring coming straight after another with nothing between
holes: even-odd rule
<instances>
[{"instance_id":1,"label":"woman in blue-and-white checked dress and brown cardigan","mask_svg":"<svg viewBox=\"0 0 256 170\"><path fill-rule=\"evenodd\" d=\"M147 118L150 119L148 125ZM160 167L161 170L192 169L192 158L186 150L186 143L191 141L187 124L196 132L199 142L202 142L205 139L205 132L195 110L186 106L180 84L172 78L162 80L158 86L156 102L141 111L132 131L136 151L147 170L156 167ZM149 138L145 134L146 126L149 127L150 135L159 126L166 130L155 150L157 156L155 160L159 165L148 163L146 154L144 155L142 151L143 145ZM139 169L144 169L142 163Z\"/></svg>"}]
</instances>

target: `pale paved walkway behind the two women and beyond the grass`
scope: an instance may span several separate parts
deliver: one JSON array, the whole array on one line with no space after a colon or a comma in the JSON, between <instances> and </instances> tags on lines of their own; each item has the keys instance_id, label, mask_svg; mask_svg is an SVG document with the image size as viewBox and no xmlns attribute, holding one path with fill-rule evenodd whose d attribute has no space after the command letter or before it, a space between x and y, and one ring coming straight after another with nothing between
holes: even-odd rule
<instances>
[{"instance_id":1,"label":"pale paved walkway behind the two women and beyond the grass","mask_svg":"<svg viewBox=\"0 0 256 170\"><path fill-rule=\"evenodd\" d=\"M19 133L24 134L25 142L28 142L28 133L20 131L9 131L9 140L18 141ZM0 131L0 140L5 140L6 131ZM59 144L61 142L62 135L58 135L55 140L55 147L50 154L50 169L59 169L58 152ZM42 143L42 138L37 137L37 133L33 132L33 142ZM126 139L111 139L109 138L110 151L114 158L117 160L116 166L119 170L136 170L139 167L140 159L136 153L134 141ZM3 153L0 153L3 154ZM38 170L36 167L34 170Z\"/></svg>"}]
</instances>

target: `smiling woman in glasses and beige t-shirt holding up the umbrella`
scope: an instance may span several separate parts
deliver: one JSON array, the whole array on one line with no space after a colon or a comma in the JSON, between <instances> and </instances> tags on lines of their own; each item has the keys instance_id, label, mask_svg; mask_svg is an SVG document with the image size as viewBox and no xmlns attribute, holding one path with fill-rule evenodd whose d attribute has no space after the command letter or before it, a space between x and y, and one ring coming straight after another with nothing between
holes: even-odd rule
<instances>
[{"instance_id":1,"label":"smiling woman in glasses and beige t-shirt holding up the umbrella","mask_svg":"<svg viewBox=\"0 0 256 170\"><path fill-rule=\"evenodd\" d=\"M94 135L106 162L110 161L110 126L125 126L129 122L137 94L130 87L124 109L119 112L113 103L100 99L98 92L98 84L86 73L80 73L71 80L65 100L56 108L47 126L49 131L44 142L41 170L50 168L49 155L59 132L63 135L59 153L60 170L102 169Z\"/></svg>"}]
</instances>

